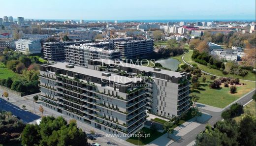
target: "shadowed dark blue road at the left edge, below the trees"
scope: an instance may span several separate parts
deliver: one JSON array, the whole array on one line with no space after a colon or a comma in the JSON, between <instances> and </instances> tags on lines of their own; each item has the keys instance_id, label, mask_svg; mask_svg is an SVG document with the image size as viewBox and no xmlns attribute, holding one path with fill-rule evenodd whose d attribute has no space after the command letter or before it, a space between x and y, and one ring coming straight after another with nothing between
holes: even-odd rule
<instances>
[{"instance_id":1,"label":"shadowed dark blue road at the left edge, below the trees","mask_svg":"<svg viewBox=\"0 0 256 146\"><path fill-rule=\"evenodd\" d=\"M40 116L35 115L31 112L22 110L18 106L8 101L5 101L3 99L0 99L0 110L12 112L13 115L20 117L25 123L29 123L40 118Z\"/></svg>"}]
</instances>

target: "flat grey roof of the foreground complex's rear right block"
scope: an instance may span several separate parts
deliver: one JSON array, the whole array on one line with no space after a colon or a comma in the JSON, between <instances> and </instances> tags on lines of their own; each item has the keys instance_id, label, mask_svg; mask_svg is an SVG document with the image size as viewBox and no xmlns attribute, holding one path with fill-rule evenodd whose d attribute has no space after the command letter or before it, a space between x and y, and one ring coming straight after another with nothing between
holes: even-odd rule
<instances>
[{"instance_id":1,"label":"flat grey roof of the foreground complex's rear right block","mask_svg":"<svg viewBox=\"0 0 256 146\"><path fill-rule=\"evenodd\" d=\"M115 64L115 65L119 65L119 66L126 66L126 67L136 68L138 70L144 70L146 72L161 73L161 74L165 74L165 75L169 75L169 76L174 76L175 78L182 77L183 75L187 74L185 72L175 72L175 71L164 70L164 69L161 69L160 71L156 71L156 70L154 70L153 67L147 67L147 66L131 64L131 63L126 63L126 62L116 63L114 60L108 60L108 59L94 59L94 61L100 61L100 62L103 61L106 64Z\"/></svg>"}]
</instances>

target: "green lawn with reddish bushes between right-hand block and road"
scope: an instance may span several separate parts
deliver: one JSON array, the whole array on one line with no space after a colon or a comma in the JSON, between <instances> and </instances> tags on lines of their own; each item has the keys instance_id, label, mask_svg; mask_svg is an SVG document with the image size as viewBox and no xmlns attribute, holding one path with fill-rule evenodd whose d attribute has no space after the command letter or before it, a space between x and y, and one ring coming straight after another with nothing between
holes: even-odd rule
<instances>
[{"instance_id":1,"label":"green lawn with reddish bushes between right-hand block and road","mask_svg":"<svg viewBox=\"0 0 256 146\"><path fill-rule=\"evenodd\" d=\"M209 84L213 82L213 80L210 79L210 75L205 75L205 83L202 82L202 77L203 75L198 79L198 81L200 81L200 87L194 89L191 94L195 94L200 97L198 100L199 103L219 108L224 108L256 87L255 82L240 81L246 85L237 87L237 92L231 94L229 92L229 88L225 88L223 85L219 89L210 88Z\"/></svg>"}]
</instances>

